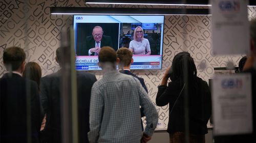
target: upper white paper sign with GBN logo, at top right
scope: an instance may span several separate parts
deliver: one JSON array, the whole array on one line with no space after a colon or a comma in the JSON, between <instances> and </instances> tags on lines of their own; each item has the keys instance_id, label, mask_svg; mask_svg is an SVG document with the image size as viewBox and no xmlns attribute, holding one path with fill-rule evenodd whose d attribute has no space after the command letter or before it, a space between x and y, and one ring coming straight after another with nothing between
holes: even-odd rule
<instances>
[{"instance_id":1,"label":"upper white paper sign with GBN logo, at top right","mask_svg":"<svg viewBox=\"0 0 256 143\"><path fill-rule=\"evenodd\" d=\"M249 53L247 0L212 0L214 54Z\"/></svg>"}]
</instances>

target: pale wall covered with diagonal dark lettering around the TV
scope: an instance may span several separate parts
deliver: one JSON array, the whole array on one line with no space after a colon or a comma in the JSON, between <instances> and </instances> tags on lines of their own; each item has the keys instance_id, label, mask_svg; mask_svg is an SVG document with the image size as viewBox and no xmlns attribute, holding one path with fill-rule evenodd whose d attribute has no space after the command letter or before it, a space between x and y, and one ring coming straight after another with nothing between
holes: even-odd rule
<instances>
[{"instance_id":1,"label":"pale wall covered with diagonal dark lettering around the TV","mask_svg":"<svg viewBox=\"0 0 256 143\"><path fill-rule=\"evenodd\" d=\"M84 5L83 1L56 1L58 7L113 7L113 5ZM26 62L37 62L42 68L42 76L56 72L59 66L55 62L55 50L60 46L60 30L72 24L72 15L50 15L54 0L28 1L25 6L21 1L0 1L0 77L6 72L3 64L3 50L10 46L25 49ZM115 5L123 8L151 8L154 6ZM171 6L159 6L172 8ZM176 7L178 8L178 7ZM255 17L254 8L249 8L249 15ZM28 18L26 20L26 17ZM138 70L134 74L144 78L148 96L155 104L157 86L161 83L165 69L172 64L174 55L182 50L193 56L199 77L208 81L214 74L214 67L226 67L231 61L238 65L242 55L214 56L211 50L210 16L165 16L162 70ZM26 34L25 34L26 33ZM26 41L27 37L27 43ZM28 46L25 46L25 45ZM199 66L205 64L206 66ZM99 79L101 71L92 71ZM168 105L156 106L159 121L167 128ZM163 122L162 122L163 121ZM144 121L145 122L145 121Z\"/></svg>"}]
</instances>

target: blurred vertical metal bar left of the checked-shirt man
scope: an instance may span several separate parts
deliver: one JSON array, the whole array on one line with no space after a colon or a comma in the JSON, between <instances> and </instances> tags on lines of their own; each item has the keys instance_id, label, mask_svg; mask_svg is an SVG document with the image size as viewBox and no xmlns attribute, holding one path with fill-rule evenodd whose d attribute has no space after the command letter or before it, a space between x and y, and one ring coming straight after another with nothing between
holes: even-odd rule
<instances>
[{"instance_id":1,"label":"blurred vertical metal bar left of the checked-shirt man","mask_svg":"<svg viewBox=\"0 0 256 143\"><path fill-rule=\"evenodd\" d=\"M72 28L70 28L72 30ZM61 139L63 143L78 142L76 72L73 35L67 28L61 32Z\"/></svg>"}]
</instances>

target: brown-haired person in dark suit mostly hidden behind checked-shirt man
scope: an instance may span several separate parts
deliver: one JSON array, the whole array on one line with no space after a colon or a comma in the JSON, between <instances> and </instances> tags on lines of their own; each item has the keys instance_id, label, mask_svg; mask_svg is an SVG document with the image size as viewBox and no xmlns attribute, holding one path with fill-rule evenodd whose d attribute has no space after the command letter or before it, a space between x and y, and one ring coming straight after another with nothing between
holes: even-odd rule
<instances>
[{"instance_id":1,"label":"brown-haired person in dark suit mostly hidden behind checked-shirt man","mask_svg":"<svg viewBox=\"0 0 256 143\"><path fill-rule=\"evenodd\" d=\"M127 75L132 75L133 77L136 77L137 79L139 79L142 87L145 89L145 91L147 93L147 88L146 88L146 85L144 83L144 79L141 78L141 77L138 77L135 74L133 74L130 70L131 64L133 63L133 53L132 53L132 51L125 48L125 47L122 47L122 48L118 49L116 51L116 53L117 53L117 58L120 61L119 64L118 64L119 72L127 74ZM143 113L143 108L140 108L140 113L141 113L141 117L145 116L144 113ZM142 120L141 120L141 128L142 128L142 131L143 131L144 129L143 129Z\"/></svg>"}]
</instances>

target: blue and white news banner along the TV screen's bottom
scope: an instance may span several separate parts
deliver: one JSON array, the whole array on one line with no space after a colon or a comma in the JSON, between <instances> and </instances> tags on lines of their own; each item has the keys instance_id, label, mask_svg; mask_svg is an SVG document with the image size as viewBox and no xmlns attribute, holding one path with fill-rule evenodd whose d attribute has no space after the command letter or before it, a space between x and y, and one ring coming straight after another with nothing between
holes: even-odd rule
<instances>
[{"instance_id":1,"label":"blue and white news banner along the TV screen's bottom","mask_svg":"<svg viewBox=\"0 0 256 143\"><path fill-rule=\"evenodd\" d=\"M161 69L162 55L133 55L131 70ZM76 70L101 70L98 56L76 56Z\"/></svg>"}]
</instances>

